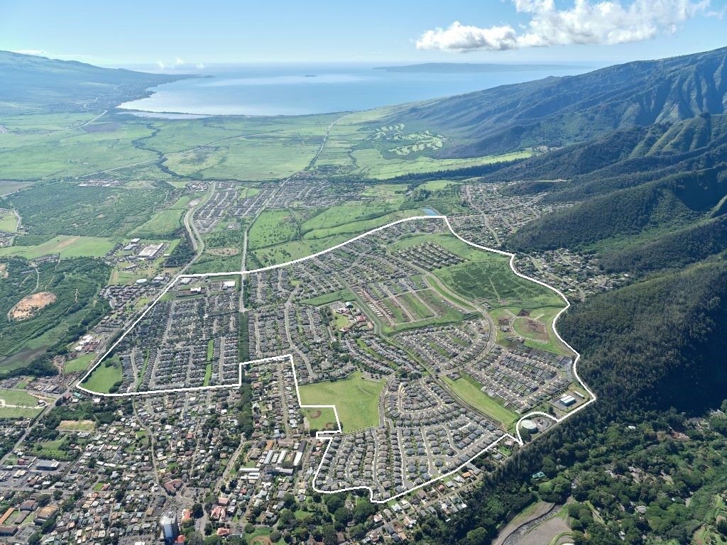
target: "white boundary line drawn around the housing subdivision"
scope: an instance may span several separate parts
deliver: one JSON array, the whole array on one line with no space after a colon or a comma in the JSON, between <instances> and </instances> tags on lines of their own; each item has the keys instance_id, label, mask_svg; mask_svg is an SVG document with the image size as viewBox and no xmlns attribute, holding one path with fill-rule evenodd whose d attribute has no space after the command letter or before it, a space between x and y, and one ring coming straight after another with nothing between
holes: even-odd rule
<instances>
[{"instance_id":1,"label":"white boundary line drawn around the housing subdivision","mask_svg":"<svg viewBox=\"0 0 727 545\"><path fill-rule=\"evenodd\" d=\"M456 468L452 469L451 471L446 472L446 473L443 473L442 475L439 475L438 477L434 477L433 479L428 480L426 483L423 483L421 485L417 485L417 486L414 486L412 488L409 488L406 491L403 491L401 493L395 494L394 496L391 496L390 498L387 498L387 499L384 499L384 500L374 499L374 491L369 486L351 486L351 487L347 487L347 488L340 488L337 491L324 491L324 490L320 490L320 489L316 488L316 480L318 479L318 473L321 472L321 467L323 466L323 461L324 461L324 459L326 459L326 456L328 455L329 448L331 447L331 443L328 443L328 445L326 446L326 451L324 451L323 457L321 458L321 464L318 464L318 468L316 469L316 473L315 473L315 475L313 475L313 490L315 490L316 492L319 492L319 493L324 493L324 494L333 494L333 493L347 492L347 491L355 491L355 490L368 490L369 491L369 500L372 503L375 503L375 504L386 504L387 502L392 501L392 500L394 500L396 498L399 498L401 496L406 496L407 494L409 494L409 493L411 493L413 491L416 491L419 488L423 488L423 487L425 487L427 485L430 485L432 483L435 483L436 481L441 480L444 477L449 477L450 475L454 475L454 473L459 472L463 467L465 467L471 461L473 461L474 459L476 459L478 456L481 456L483 453L486 453L487 451L491 450L491 448L493 448L495 445L497 445L497 443L499 443L500 441L502 441L505 438L508 438L509 437L510 439L517 441L520 445L523 445L524 442L523 442L523 437L522 437L521 432L520 432L520 427L521 427L521 422L523 420L525 420L525 419L529 419L532 416L543 416L545 418L548 418L548 419L551 419L551 420L555 421L556 424L559 424L563 420L569 418L569 416L574 415L578 411L581 411L582 409L586 408L591 403L595 402L595 400L596 400L595 394L591 391L591 389L589 387L587 387L587 385L585 384L585 382L583 382L582 379L580 378L580 376L578 375L577 363L580 360L581 355L579 354L579 352L577 352L577 350L575 350L573 347L571 347L570 344L568 344L567 342L565 342L563 340L563 338L561 337L561 334L559 334L558 333L558 330L555 328L555 324L557 323L558 318L560 318L561 315L563 314L563 312L565 312L566 310L568 310L569 307L571 306L571 303L569 302L569 300L565 296L565 294L563 294L563 292L561 292L560 290L558 290L558 288L555 288L553 286L550 286L550 284L547 284L547 283L543 282L542 280L537 280L537 278L531 278L529 276L523 275L522 273L519 273L518 270L515 269L515 254L510 253L509 251L503 251L503 250L498 250L498 249L494 249L494 248L489 248L488 246L481 246L480 244L476 244L476 243L467 241L467 239L465 239L465 238L462 238L460 235L457 234L457 232L455 232L454 228L449 223L449 218L446 217L446 216L444 216L444 215L436 215L436 216L412 216L412 217L407 217L407 218L404 218L404 219L398 219L395 222L387 223L386 225L382 225L381 227L377 227L375 229L371 229L369 231L366 231L366 233L362 233L361 235L357 235L357 236L355 236L353 238L350 238L348 241L342 242L340 244L336 244L335 246L332 246L329 249L325 249L325 250L318 251L315 254L310 254L309 256L306 256L306 257L300 257L298 259L293 259L292 261L289 261L289 262L279 263L278 265L270 265L269 267L261 267L260 269L254 269L254 270L230 271L229 273L197 273L197 274L177 275L164 288L164 290L161 291L161 294L159 294L156 297L156 299L154 299L154 301L151 304L148 305L148 307L141 313L141 315L139 316L139 318L137 318L136 320L134 320L134 323L132 323L132 325L129 326L129 328L127 328L126 331L124 331L124 334L122 334L119 337L119 339L116 339L116 342L114 342L111 345L111 348L109 348L105 352L105 354L101 358L99 358L99 360L94 364L94 366L92 366L92 368L89 368L89 370L87 371L87 373L84 376L82 376L81 379L79 379L79 382L76 383L76 388L80 389L83 392L86 392L89 395L97 395L97 396L101 396L101 397L127 397L127 396L140 396L140 395L167 394L167 393L176 393L176 392L199 392L199 391L203 391L203 390L207 390L207 389L238 388L242 384L242 369L243 369L243 366L250 366L250 365L253 365L254 363L262 363L262 362L267 362L267 361L284 361L284 360L287 359L287 360L289 360L289 362L291 364L291 367L292 367L293 380L294 380L294 383L295 383L295 392L296 392L296 395L297 395L297 398L298 398L298 405L300 405L300 408L332 408L333 409L334 415L336 416L336 424L338 426L338 429L329 430L329 431L323 431L323 432L316 432L316 439L330 441L330 440L332 440L332 438L335 435L342 434L343 433L342 432L342 428L341 428L341 421L340 421L340 419L338 417L338 411L337 411L336 405L303 405L302 404L302 402L300 400L300 388L298 386L298 378L297 378L297 374L295 372L295 365L294 365L293 356L291 354L284 354L284 355L273 356L271 358L261 358L261 359L258 359L258 360L250 360L250 361L247 361L247 362L241 362L239 364L240 365L240 368L239 368L240 375L239 375L239 379L238 379L237 384L214 384L212 386L197 386L197 387L187 387L187 388L169 388L169 389L149 390L149 391L143 391L143 392L123 392L123 393L118 393L117 392L117 393L113 393L113 394L105 394L105 393L101 393L101 392L93 392L92 390L89 390L87 388L84 388L84 387L81 386L81 383L84 382L84 380L86 380L90 374L92 374L92 372L95 370L95 368L97 368L100 365L100 363L103 360L105 360L105 358L111 352L113 352L113 350L116 348L116 345L118 345L119 342L121 342L124 339L124 337L127 334L129 334L130 331L132 331L132 329L137 325L137 323L139 323L145 317L145 315L152 309L152 307L164 296L164 294L166 294L167 291L169 291L170 288L172 288L172 286L174 286L175 283L177 283L177 280L180 280L181 278L204 278L204 277L220 277L220 276L231 276L231 275L240 275L240 276L243 276L243 275L249 275L249 274L254 274L254 273L264 273L265 271L268 271L268 270L279 269L281 267L288 267L289 265L295 265L297 263L307 261L308 259L313 259L315 257L319 257L321 255L328 254L331 251L334 251L334 250L337 250L339 248L342 248L343 246L347 246L348 244L353 243L353 242L356 242L356 241L360 240L361 238L364 238L366 236L369 236L369 235L371 235L373 233L378 233L379 231L385 230L388 227L393 227L394 225L398 225L398 224L401 224L403 222L411 222L411 221L416 221L416 220L420 220L420 219L427 219L427 220L428 219L443 219L444 220L444 223L446 224L447 228L452 233L452 235L454 235L455 237L459 238L460 241L462 241L463 243L465 243L465 244L467 244L469 246L473 246L474 248L477 248L477 249L481 249L481 250L485 250L485 251L491 251L491 252L494 252L495 254L500 254L500 255L503 255L503 256L510 257L510 262L509 262L510 263L510 270L512 270L513 273L515 273L515 275L519 276L520 278L524 278L525 280L529 280L531 282L537 283L540 286L544 286L545 288L548 288L551 291L554 291L556 294L558 294L558 296L561 297L561 299L563 299L563 302L566 303L566 306L563 307L563 309L560 312L558 312L558 314L555 315L555 318L553 318L553 333L555 333L555 336L558 337L558 340L559 341L561 341L566 347L569 348L569 350L571 350L571 352L573 352L576 355L576 358L573 360L573 374L576 377L578 383L590 395L590 400L587 400L587 402L582 403L581 405L578 405L576 408L574 408L572 411L569 411L569 413L566 413L566 415L562 416L560 419L556 418L553 415L550 415L550 414L547 414L547 413L543 413L542 411L532 411L530 413L527 413L526 415L521 416L521 418L518 419L517 423L515 424L515 433L516 433L517 437L511 435L508 432L505 432L502 435L502 437L499 437L493 443L490 443L485 448L483 448L481 451L479 451L477 454L475 454L475 456L472 456L470 459L467 459L467 461L465 461L462 464L459 464L459 466L457 466Z\"/></svg>"}]
</instances>

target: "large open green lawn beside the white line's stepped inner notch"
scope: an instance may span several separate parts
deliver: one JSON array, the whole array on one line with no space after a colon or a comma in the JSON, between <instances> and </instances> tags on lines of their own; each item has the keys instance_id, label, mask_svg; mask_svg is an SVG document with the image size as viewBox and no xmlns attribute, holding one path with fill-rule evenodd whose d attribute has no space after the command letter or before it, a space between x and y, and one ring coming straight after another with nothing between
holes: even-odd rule
<instances>
[{"instance_id":1,"label":"large open green lawn beside the white line's stepped inner notch","mask_svg":"<svg viewBox=\"0 0 727 545\"><path fill-rule=\"evenodd\" d=\"M361 371L334 382L303 384L299 387L302 405L336 405L344 432L379 425L379 397L384 381L362 378Z\"/></svg>"}]
</instances>

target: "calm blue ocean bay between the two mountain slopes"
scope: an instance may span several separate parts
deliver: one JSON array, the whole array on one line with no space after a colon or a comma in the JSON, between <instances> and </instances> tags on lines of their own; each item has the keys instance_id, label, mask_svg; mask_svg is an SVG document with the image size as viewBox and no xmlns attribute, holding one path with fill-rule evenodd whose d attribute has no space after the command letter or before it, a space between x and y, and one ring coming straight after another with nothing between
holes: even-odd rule
<instances>
[{"instance_id":1,"label":"calm blue ocean bay between the two mountain slopes","mask_svg":"<svg viewBox=\"0 0 727 545\"><path fill-rule=\"evenodd\" d=\"M363 64L214 65L194 70L206 77L157 86L150 97L126 102L121 108L248 116L368 110L547 76L572 76L593 68L530 65L489 72L442 73L389 71Z\"/></svg>"}]
</instances>

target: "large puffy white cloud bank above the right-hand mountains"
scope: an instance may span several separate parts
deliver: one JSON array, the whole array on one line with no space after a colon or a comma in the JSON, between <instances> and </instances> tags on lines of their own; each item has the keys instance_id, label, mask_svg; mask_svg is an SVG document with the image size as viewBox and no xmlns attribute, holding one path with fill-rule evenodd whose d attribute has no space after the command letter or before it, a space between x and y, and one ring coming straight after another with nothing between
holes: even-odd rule
<instances>
[{"instance_id":1,"label":"large puffy white cloud bank above the right-hand mountains","mask_svg":"<svg viewBox=\"0 0 727 545\"><path fill-rule=\"evenodd\" d=\"M518 13L530 15L518 33L510 25L479 28L459 21L449 28L426 31L417 49L467 52L503 51L522 47L569 44L624 44L675 33L678 23L707 12L710 0L575 0L570 9L557 9L554 0L512 0Z\"/></svg>"}]
</instances>

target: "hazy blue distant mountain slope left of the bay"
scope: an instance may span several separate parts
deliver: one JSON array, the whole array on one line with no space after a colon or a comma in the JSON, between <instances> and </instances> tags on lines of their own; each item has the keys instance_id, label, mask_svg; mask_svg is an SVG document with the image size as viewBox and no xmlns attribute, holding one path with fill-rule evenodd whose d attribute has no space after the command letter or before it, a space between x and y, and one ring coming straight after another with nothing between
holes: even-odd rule
<instances>
[{"instance_id":1,"label":"hazy blue distant mountain slope left of the bay","mask_svg":"<svg viewBox=\"0 0 727 545\"><path fill-rule=\"evenodd\" d=\"M82 111L113 108L142 97L148 87L190 76L100 68L70 60L0 51L0 114L23 110Z\"/></svg>"}]
</instances>

